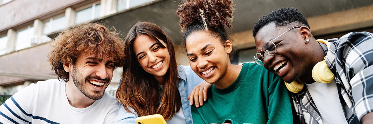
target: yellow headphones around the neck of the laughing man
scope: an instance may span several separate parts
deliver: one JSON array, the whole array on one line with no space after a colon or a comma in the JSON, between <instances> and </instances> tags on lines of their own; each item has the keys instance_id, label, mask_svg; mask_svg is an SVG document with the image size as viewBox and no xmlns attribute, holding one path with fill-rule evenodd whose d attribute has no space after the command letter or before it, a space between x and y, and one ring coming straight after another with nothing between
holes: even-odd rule
<instances>
[{"instance_id":1,"label":"yellow headphones around the neck of the laughing man","mask_svg":"<svg viewBox=\"0 0 373 124\"><path fill-rule=\"evenodd\" d=\"M326 44L327 49L329 50L330 42L326 41L325 39L317 39L316 41ZM324 57L323 61L317 63L312 69L312 78L319 83L330 83L334 79L334 74L332 71L330 71L325 59L326 56ZM291 83L285 82L285 85L290 92L298 93L303 89L304 83L300 79L296 79Z\"/></svg>"}]
</instances>

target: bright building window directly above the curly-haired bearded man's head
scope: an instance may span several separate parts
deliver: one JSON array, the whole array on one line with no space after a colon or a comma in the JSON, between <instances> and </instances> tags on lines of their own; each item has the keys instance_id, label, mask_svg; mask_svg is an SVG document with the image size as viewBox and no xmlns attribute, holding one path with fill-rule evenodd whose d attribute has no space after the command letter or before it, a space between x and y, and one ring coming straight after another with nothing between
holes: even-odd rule
<instances>
[{"instance_id":1,"label":"bright building window directly above the curly-haired bearded man's head","mask_svg":"<svg viewBox=\"0 0 373 124\"><path fill-rule=\"evenodd\" d=\"M93 3L92 6L84 8L76 12L75 23L88 22L89 20L97 19L100 17L100 3Z\"/></svg>"}]
</instances>

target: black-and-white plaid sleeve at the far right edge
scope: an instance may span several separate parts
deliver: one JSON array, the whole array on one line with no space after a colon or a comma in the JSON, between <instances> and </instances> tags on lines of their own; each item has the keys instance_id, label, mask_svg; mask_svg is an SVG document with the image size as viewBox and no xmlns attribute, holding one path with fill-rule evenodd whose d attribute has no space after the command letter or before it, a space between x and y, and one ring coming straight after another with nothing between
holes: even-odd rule
<instances>
[{"instance_id":1,"label":"black-and-white plaid sleeve at the far right edge","mask_svg":"<svg viewBox=\"0 0 373 124\"><path fill-rule=\"evenodd\" d=\"M344 70L338 72L338 76L345 76L341 78L342 82L349 82L344 86L347 93L352 95L354 113L361 120L365 114L373 111L373 34L357 32L348 38L341 38L336 57L339 60L336 64Z\"/></svg>"}]
</instances>

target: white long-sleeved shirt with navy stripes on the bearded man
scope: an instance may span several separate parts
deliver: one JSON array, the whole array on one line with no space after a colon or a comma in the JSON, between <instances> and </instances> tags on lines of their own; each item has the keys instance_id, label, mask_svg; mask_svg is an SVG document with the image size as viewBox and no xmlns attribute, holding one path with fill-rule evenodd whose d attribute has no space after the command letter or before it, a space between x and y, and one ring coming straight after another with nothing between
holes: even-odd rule
<instances>
[{"instance_id":1,"label":"white long-sleeved shirt with navy stripes on the bearded man","mask_svg":"<svg viewBox=\"0 0 373 124\"><path fill-rule=\"evenodd\" d=\"M118 115L118 102L104 93L87 108L69 104L65 82L57 79L31 84L14 94L0 106L0 122L4 124L113 124Z\"/></svg>"}]
</instances>

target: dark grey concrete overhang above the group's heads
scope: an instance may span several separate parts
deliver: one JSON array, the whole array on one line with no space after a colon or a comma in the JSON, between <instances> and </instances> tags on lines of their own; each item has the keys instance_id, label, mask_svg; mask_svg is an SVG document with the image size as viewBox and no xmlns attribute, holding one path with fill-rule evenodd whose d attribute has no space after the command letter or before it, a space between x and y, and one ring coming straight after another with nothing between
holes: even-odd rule
<instances>
[{"instance_id":1,"label":"dark grey concrete overhang above the group's heads","mask_svg":"<svg viewBox=\"0 0 373 124\"><path fill-rule=\"evenodd\" d=\"M91 22L105 23L114 26L124 38L131 26L144 20L156 23L173 39L176 44L181 44L179 18L176 15L178 4L182 0L156 0L138 7L123 10L112 15L104 16ZM303 15L313 17L341 10L355 9L357 7L373 4L372 0L233 0L235 3L234 22L230 33L251 30L263 15L283 6L295 7ZM336 18L341 21L343 18ZM322 20L320 20L322 23ZM312 29L312 27L311 27ZM54 38L58 32L48 34ZM251 35L251 34L250 34Z\"/></svg>"}]
</instances>

